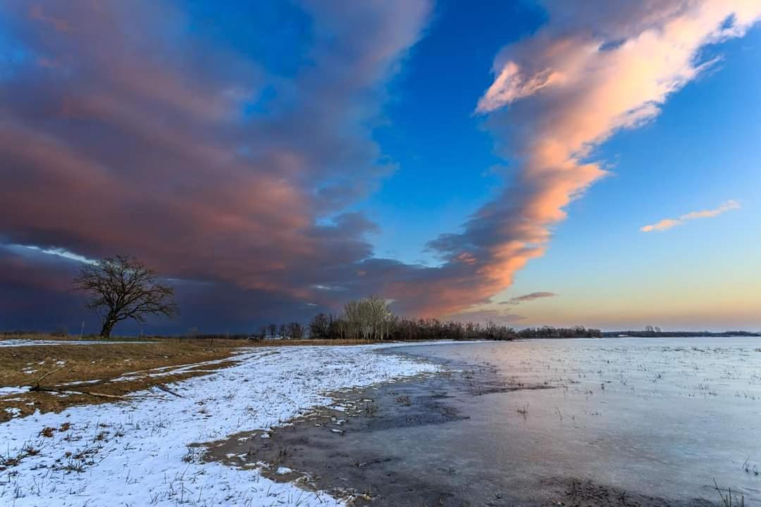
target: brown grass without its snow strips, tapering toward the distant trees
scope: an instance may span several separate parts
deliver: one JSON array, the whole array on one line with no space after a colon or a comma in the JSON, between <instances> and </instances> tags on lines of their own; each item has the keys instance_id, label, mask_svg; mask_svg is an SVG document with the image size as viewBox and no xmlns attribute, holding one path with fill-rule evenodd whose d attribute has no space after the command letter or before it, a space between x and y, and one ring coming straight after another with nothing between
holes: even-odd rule
<instances>
[{"instance_id":1,"label":"brown grass without its snow strips, tapering toward the distant trees","mask_svg":"<svg viewBox=\"0 0 761 507\"><path fill-rule=\"evenodd\" d=\"M37 340L75 340L76 337L56 337L49 334L4 334L4 338ZM88 337L88 340L94 338ZM49 391L31 391L0 397L0 422L11 419L6 408L21 410L21 417L40 412L59 412L82 404L113 403L119 397L154 386L163 386L191 377L206 375L211 369L234 365L234 359L212 366L176 374L145 376L134 380L112 382L131 372L164 366L182 366L230 357L240 347L288 347L295 345L355 345L367 341L355 340L282 340L248 341L215 338L123 338L110 341L150 341L151 343L110 343L90 345L42 345L0 347L0 387L36 386L42 389L68 391L66 395ZM65 364L60 364L63 361ZM27 370L27 372L24 372ZM30 370L35 370L30 372ZM44 378L43 378L44 376ZM41 380L40 380L41 379ZM81 385L67 382L98 381ZM74 391L79 391L75 393Z\"/></svg>"}]
</instances>

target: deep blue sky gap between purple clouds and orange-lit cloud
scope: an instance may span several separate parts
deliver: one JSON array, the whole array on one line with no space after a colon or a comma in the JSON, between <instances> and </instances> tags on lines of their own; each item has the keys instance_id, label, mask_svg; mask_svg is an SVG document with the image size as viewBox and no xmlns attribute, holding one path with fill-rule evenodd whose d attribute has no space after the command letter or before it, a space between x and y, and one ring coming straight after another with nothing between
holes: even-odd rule
<instances>
[{"instance_id":1,"label":"deep blue sky gap between purple clouds and orange-lit cloud","mask_svg":"<svg viewBox=\"0 0 761 507\"><path fill-rule=\"evenodd\" d=\"M379 255L437 259L425 243L452 230L501 186L490 168L504 163L473 115L492 82L494 55L529 36L545 14L530 2L445 0L393 81L386 125L375 134L398 169L365 204L382 232Z\"/></svg>"}]
</instances>

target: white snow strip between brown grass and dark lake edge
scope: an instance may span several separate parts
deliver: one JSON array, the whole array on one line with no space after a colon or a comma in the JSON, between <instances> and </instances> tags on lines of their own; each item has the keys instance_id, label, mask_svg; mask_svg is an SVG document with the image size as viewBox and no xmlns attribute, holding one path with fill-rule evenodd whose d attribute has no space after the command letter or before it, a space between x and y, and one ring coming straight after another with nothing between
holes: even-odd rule
<instances>
[{"instance_id":1,"label":"white snow strip between brown grass and dark lake edge","mask_svg":"<svg viewBox=\"0 0 761 507\"><path fill-rule=\"evenodd\" d=\"M341 505L256 470L202 463L187 445L277 426L330 404L326 391L437 370L378 347L246 349L237 366L170 385L182 398L151 389L0 423L0 505Z\"/></svg>"}]
</instances>

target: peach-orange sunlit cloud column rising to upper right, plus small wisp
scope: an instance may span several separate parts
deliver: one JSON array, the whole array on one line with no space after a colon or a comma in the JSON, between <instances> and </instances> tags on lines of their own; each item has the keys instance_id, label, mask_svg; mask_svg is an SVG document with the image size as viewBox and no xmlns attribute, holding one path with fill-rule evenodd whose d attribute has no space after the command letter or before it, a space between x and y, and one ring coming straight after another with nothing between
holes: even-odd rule
<instances>
[{"instance_id":1,"label":"peach-orange sunlit cloud column rising to upper right, plus small wisp","mask_svg":"<svg viewBox=\"0 0 761 507\"><path fill-rule=\"evenodd\" d=\"M703 46L743 36L761 17L761 3L747 0L544 3L548 24L501 50L495 80L476 106L498 153L518 160L516 176L463 233L431 242L451 265L463 252L470 262L441 268L441 276L454 273L451 287L426 309L479 306L511 284L543 255L568 204L606 175L588 160L594 147L658 116L671 93L712 65L699 60Z\"/></svg>"}]
</instances>

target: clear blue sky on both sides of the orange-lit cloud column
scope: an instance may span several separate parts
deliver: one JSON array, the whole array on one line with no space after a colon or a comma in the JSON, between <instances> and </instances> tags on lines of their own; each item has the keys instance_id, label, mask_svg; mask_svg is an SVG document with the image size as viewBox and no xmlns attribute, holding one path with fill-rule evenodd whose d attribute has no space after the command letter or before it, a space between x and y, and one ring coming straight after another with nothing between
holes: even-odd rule
<instances>
[{"instance_id":1,"label":"clear blue sky on both sides of the orange-lit cloud column","mask_svg":"<svg viewBox=\"0 0 761 507\"><path fill-rule=\"evenodd\" d=\"M487 8L492 13L499 9ZM479 24L482 13L444 2L425 39L412 49L408 69L393 84L398 95L387 108L389 125L377 139L399 169L364 204L381 227L373 238L379 255L435 264L425 243L461 223L500 185L489 168L502 161L493 153L491 135L473 116L474 105L489 85L488 55L530 36L544 22L543 12L527 2L501 9ZM451 36L453 25L460 24L469 30ZM620 132L595 151L594 159L606 164L610 176L572 203L568 220L554 229L546 255L532 261L504 292L505 297L537 290L559 293L556 300L531 303L537 309L531 309L527 323L568 324L569 313L579 305L594 307L600 295L618 299L619 311L626 314L629 305L643 306L648 292L666 290L692 299L694 290L701 290L705 294L696 304L680 306L686 316L677 322L722 328L731 326L734 316L706 322L700 315L705 301L721 305L733 288L753 297L754 285L761 282L753 270L754 259L761 258L761 230L752 226L761 223L761 29L710 51L721 61L674 93L657 119ZM459 69L457 75L441 79L452 67ZM728 199L740 201L742 208L664 233L639 231L662 217L714 208ZM753 299L761 306L758 296ZM557 306L568 310L548 318ZM578 323L598 319L600 325L610 325L620 318L597 315L592 308L584 311L588 314L579 315ZM653 322L668 320L646 309L627 323L641 327L648 312ZM688 322L689 316L696 324ZM757 327L761 322L740 324Z\"/></svg>"}]
</instances>

